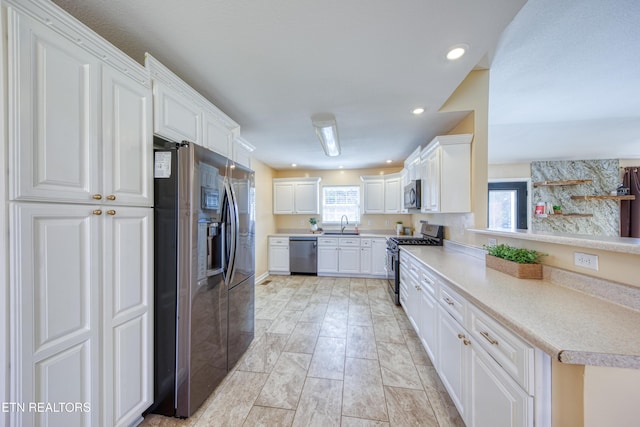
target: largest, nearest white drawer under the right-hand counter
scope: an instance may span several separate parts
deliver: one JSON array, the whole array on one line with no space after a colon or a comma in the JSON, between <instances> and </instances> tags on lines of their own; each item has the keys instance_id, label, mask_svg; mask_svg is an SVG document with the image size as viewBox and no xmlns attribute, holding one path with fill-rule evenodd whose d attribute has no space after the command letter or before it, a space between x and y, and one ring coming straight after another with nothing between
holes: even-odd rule
<instances>
[{"instance_id":1,"label":"largest, nearest white drawer under the right-hand counter","mask_svg":"<svg viewBox=\"0 0 640 427\"><path fill-rule=\"evenodd\" d=\"M533 347L476 307L469 309L468 328L475 342L527 393L533 395Z\"/></svg>"}]
</instances>

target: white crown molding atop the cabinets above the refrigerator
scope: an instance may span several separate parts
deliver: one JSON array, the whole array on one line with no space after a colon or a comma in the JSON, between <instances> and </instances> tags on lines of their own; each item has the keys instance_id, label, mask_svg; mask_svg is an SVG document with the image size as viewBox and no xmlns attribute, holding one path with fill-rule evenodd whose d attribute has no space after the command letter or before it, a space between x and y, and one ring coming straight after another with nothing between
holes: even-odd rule
<instances>
[{"instance_id":1,"label":"white crown molding atop the cabinets above the refrigerator","mask_svg":"<svg viewBox=\"0 0 640 427\"><path fill-rule=\"evenodd\" d=\"M200 107L203 112L209 113L216 117L234 136L240 135L240 125L227 116L222 110L216 107L211 101L202 96L194 88L189 86L178 77L173 71L164 66L160 61L155 59L149 52L145 53L144 64L149 72L151 80L157 80L177 91L181 95L188 98L195 105ZM250 145L250 144L249 144Z\"/></svg>"}]
</instances>

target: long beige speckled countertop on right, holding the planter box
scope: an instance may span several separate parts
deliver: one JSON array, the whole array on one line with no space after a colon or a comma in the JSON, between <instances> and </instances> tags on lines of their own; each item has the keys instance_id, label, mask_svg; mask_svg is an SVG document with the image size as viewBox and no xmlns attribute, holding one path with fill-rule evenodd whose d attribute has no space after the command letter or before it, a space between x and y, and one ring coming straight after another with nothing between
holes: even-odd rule
<instances>
[{"instance_id":1,"label":"long beige speckled countertop on right, holding the planter box","mask_svg":"<svg viewBox=\"0 0 640 427\"><path fill-rule=\"evenodd\" d=\"M640 369L640 311L547 280L517 279L446 247L402 246L401 252L560 362Z\"/></svg>"}]
</instances>

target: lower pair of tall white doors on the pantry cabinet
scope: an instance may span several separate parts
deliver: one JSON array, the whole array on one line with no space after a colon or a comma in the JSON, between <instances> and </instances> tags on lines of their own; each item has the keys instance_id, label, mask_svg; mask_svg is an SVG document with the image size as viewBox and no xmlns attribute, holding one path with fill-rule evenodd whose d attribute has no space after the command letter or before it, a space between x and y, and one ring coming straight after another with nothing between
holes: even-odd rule
<instances>
[{"instance_id":1,"label":"lower pair of tall white doors on the pantry cabinet","mask_svg":"<svg viewBox=\"0 0 640 427\"><path fill-rule=\"evenodd\" d=\"M153 400L153 210L13 203L17 425L131 425Z\"/></svg>"}]
</instances>

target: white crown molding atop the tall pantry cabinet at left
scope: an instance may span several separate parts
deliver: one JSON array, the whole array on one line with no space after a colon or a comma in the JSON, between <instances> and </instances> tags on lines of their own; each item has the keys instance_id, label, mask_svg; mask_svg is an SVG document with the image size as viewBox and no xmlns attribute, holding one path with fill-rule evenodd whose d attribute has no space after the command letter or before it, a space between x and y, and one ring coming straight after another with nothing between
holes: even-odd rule
<instances>
[{"instance_id":1,"label":"white crown molding atop the tall pantry cabinet at left","mask_svg":"<svg viewBox=\"0 0 640 427\"><path fill-rule=\"evenodd\" d=\"M14 9L41 22L95 56L100 62L121 71L147 87L151 87L149 74L141 64L56 4L45 0L3 0L3 3L9 8L9 11Z\"/></svg>"}]
</instances>

